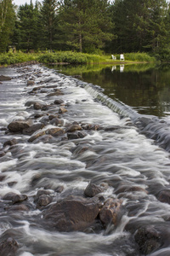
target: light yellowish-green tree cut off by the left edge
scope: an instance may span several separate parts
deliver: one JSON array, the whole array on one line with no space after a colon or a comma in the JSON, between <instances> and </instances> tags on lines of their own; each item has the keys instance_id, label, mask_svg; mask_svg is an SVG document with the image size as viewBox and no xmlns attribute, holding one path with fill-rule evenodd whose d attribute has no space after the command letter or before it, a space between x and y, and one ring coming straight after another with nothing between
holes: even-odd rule
<instances>
[{"instance_id":1,"label":"light yellowish-green tree cut off by the left edge","mask_svg":"<svg viewBox=\"0 0 170 256\"><path fill-rule=\"evenodd\" d=\"M14 5L12 0L0 1L0 52L7 49L14 29Z\"/></svg>"}]
</instances>

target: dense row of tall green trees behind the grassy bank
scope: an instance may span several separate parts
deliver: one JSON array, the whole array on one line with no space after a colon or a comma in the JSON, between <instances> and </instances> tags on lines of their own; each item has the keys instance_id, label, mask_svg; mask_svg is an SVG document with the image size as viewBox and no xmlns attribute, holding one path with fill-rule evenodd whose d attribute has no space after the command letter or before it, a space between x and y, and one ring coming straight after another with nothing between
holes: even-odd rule
<instances>
[{"instance_id":1,"label":"dense row of tall green trees behind the grassy bank","mask_svg":"<svg viewBox=\"0 0 170 256\"><path fill-rule=\"evenodd\" d=\"M0 52L170 52L166 0L43 0L16 7L0 0Z\"/></svg>"}]
</instances>

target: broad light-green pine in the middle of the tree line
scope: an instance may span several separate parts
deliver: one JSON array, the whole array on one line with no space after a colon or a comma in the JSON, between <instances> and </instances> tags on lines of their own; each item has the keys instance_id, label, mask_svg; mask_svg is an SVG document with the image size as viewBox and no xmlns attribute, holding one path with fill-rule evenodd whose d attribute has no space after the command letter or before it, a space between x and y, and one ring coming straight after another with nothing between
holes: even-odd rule
<instances>
[{"instance_id":1,"label":"broad light-green pine in the middle of the tree line","mask_svg":"<svg viewBox=\"0 0 170 256\"><path fill-rule=\"evenodd\" d=\"M70 49L93 52L112 38L107 0L60 1L59 21Z\"/></svg>"}]
</instances>

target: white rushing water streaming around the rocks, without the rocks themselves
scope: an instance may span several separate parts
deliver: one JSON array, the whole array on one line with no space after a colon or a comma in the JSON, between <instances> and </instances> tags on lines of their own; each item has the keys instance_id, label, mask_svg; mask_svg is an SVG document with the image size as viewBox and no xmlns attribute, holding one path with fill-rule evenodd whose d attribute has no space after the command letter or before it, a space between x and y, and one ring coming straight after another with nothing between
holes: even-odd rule
<instances>
[{"instance_id":1,"label":"white rushing water streaming around the rocks, without the rocks themselves","mask_svg":"<svg viewBox=\"0 0 170 256\"><path fill-rule=\"evenodd\" d=\"M37 73L41 75L37 76ZM1 211L3 224L0 224L0 233L9 232L19 242L17 255L140 255L129 232L131 228L127 225L161 223L167 227L170 206L156 197L161 189L169 188L170 160L167 151L140 134L133 125L129 117L136 118L138 113L132 113L128 108L114 112L116 108L94 101L92 87L81 86L77 79L45 67L2 68L0 74L13 77L0 84L0 146L3 148L3 143L9 139L16 138L18 141L12 148L3 148L5 154L0 158L0 172L4 175L0 182L2 202L3 195L14 192L26 194L33 206L33 196L38 189L49 189L53 202L59 201L67 195L83 195L88 183L93 182L107 183L102 196L105 199L121 198L126 208L116 228L108 226L99 234L46 230L39 224L42 212L36 207L24 213ZM26 86L27 80L32 77L36 84ZM47 96L53 91L50 88L52 85L57 85L64 95ZM46 86L41 89L45 93L38 90L34 95L29 94L36 86ZM76 121L82 125L99 125L101 129L85 131L87 136L81 139L68 141L55 138L45 143L41 140L28 143L28 135L5 133L4 128L12 120L42 113L41 110L26 107L26 102L43 102L50 106L56 98L66 104L68 112L62 116L65 125ZM125 110L128 114L122 118L120 113ZM37 118L37 122L49 114L58 113L58 107L54 105L44 113L43 117ZM113 125L115 129L107 130ZM55 125L48 124L42 131L52 127ZM78 147L86 147L86 150L78 154ZM59 186L63 187L62 193L56 192ZM129 189L134 187L138 189ZM167 252L168 248L160 250Z\"/></svg>"}]
</instances>

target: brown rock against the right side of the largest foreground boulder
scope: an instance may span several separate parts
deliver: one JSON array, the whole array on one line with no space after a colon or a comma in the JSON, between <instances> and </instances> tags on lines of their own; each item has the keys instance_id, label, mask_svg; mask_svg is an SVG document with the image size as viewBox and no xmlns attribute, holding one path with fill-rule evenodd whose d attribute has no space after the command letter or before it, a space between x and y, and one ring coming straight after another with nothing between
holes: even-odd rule
<instances>
[{"instance_id":1,"label":"brown rock against the right side of the largest foreground boulder","mask_svg":"<svg viewBox=\"0 0 170 256\"><path fill-rule=\"evenodd\" d=\"M117 199L108 199L105 201L104 207L99 212L101 222L106 226L107 224L117 224L120 217L122 217L122 201Z\"/></svg>"}]
</instances>

